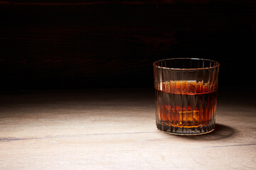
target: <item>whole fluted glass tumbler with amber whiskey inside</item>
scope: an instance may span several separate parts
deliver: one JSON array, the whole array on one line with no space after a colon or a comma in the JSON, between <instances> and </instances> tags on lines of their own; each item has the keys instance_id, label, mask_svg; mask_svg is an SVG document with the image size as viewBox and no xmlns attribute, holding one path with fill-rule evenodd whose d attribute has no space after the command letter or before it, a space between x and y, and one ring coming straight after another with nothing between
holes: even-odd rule
<instances>
[{"instance_id":1,"label":"whole fluted glass tumbler with amber whiskey inside","mask_svg":"<svg viewBox=\"0 0 256 170\"><path fill-rule=\"evenodd\" d=\"M176 58L153 65L157 128L179 135L213 131L220 64Z\"/></svg>"}]
</instances>

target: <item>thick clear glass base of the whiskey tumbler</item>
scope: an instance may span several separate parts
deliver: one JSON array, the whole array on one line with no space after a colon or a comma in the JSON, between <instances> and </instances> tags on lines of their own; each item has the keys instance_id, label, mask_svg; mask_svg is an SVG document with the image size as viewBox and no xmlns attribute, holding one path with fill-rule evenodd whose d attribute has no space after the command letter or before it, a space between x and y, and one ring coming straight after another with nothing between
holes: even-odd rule
<instances>
[{"instance_id":1,"label":"thick clear glass base of the whiskey tumbler","mask_svg":"<svg viewBox=\"0 0 256 170\"><path fill-rule=\"evenodd\" d=\"M166 125L165 123L161 123L161 121L156 120L156 127L159 130L172 135L203 135L209 132L213 132L215 123L203 125L200 127L180 128L173 125Z\"/></svg>"}]
</instances>

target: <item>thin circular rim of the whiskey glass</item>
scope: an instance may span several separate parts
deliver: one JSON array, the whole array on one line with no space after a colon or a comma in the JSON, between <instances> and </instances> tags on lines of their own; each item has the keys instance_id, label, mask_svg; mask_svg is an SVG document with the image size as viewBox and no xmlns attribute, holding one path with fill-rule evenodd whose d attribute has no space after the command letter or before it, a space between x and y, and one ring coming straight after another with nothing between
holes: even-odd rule
<instances>
[{"instance_id":1,"label":"thin circular rim of the whiskey glass","mask_svg":"<svg viewBox=\"0 0 256 170\"><path fill-rule=\"evenodd\" d=\"M204 68L182 69L182 68L161 67L156 64L156 62L168 61L168 60L201 60L201 61L215 62L216 65L212 66L212 67L204 67ZM201 70L201 69L213 69L216 67L220 67L220 63L216 62L215 60L208 60L208 59L201 59L201 58L169 58L169 59L164 59L164 60L157 60L156 62L153 63L154 67L159 68L159 69L169 69L169 70Z\"/></svg>"}]
</instances>

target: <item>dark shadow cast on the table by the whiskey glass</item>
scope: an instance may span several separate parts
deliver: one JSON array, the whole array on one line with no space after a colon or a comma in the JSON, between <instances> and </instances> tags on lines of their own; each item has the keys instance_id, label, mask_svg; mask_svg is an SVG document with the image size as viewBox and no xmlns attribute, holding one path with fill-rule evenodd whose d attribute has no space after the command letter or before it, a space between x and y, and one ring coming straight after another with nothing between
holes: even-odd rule
<instances>
[{"instance_id":1,"label":"dark shadow cast on the table by the whiskey glass","mask_svg":"<svg viewBox=\"0 0 256 170\"><path fill-rule=\"evenodd\" d=\"M231 128L227 125L216 124L215 130L213 132L207 133L205 135L193 135L193 136L181 136L176 135L177 137L181 137L186 140L223 140L225 138L231 137L235 134L235 129Z\"/></svg>"}]
</instances>

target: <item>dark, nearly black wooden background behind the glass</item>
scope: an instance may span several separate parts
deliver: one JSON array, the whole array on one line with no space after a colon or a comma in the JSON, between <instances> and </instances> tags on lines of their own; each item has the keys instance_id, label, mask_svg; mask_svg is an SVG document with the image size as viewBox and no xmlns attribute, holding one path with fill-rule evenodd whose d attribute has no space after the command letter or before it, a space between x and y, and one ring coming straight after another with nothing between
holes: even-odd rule
<instances>
[{"instance_id":1,"label":"dark, nearly black wooden background behind the glass","mask_svg":"<svg viewBox=\"0 0 256 170\"><path fill-rule=\"evenodd\" d=\"M255 84L255 1L0 1L1 91L153 88L152 63L220 62Z\"/></svg>"}]
</instances>

